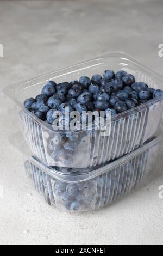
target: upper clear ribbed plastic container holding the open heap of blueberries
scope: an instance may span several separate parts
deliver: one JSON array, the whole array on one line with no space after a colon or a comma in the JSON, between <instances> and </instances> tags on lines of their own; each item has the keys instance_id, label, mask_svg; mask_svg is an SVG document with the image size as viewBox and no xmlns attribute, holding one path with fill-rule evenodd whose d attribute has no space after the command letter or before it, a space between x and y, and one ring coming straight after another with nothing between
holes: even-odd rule
<instances>
[{"instance_id":1,"label":"upper clear ribbed plastic container holding the open heap of blueberries","mask_svg":"<svg viewBox=\"0 0 163 256\"><path fill-rule=\"evenodd\" d=\"M91 77L93 74L103 74L108 68L115 71L123 69L133 74L138 82L146 82L155 89L162 88L162 77L127 54L112 52L28 81L10 84L4 89L5 94L17 103L24 138L41 162L48 166L73 168L101 166L138 148L158 130L163 109L162 98L117 114L111 119L109 136L101 136L101 130L76 132L79 143L72 152L63 147L62 143L68 140L66 134L54 131L51 125L36 118L23 107L24 100L40 94L49 80L57 83L78 80L82 75ZM53 149L51 143L55 145Z\"/></svg>"}]
</instances>

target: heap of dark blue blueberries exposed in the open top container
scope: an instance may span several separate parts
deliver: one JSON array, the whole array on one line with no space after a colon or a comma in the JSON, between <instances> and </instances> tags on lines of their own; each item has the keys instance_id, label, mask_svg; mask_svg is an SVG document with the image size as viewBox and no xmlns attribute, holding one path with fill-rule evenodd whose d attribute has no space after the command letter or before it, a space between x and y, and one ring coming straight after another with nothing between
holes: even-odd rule
<instances>
[{"instance_id":1,"label":"heap of dark blue blueberries exposed in the open top container","mask_svg":"<svg viewBox=\"0 0 163 256\"><path fill-rule=\"evenodd\" d=\"M55 120L53 113L78 111L104 111L116 115L145 104L149 100L163 96L163 91L149 88L144 82L136 82L135 77L120 70L105 70L103 77L93 75L80 77L79 81L55 83L49 81L36 98L24 101L24 107L37 118L52 124Z\"/></svg>"}]
</instances>

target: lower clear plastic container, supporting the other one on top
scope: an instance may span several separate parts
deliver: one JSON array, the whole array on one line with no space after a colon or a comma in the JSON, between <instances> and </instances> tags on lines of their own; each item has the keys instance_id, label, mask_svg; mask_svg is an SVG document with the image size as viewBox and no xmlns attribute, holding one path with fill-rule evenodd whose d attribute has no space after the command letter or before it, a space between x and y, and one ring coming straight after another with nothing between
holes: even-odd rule
<instances>
[{"instance_id":1,"label":"lower clear plastic container, supporting the other one on top","mask_svg":"<svg viewBox=\"0 0 163 256\"><path fill-rule=\"evenodd\" d=\"M27 150L20 135L10 142L23 152L24 167L36 190L49 205L61 211L97 210L126 196L154 168L163 137L105 166L90 169L47 167Z\"/></svg>"}]
</instances>

